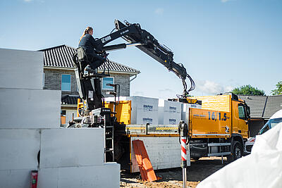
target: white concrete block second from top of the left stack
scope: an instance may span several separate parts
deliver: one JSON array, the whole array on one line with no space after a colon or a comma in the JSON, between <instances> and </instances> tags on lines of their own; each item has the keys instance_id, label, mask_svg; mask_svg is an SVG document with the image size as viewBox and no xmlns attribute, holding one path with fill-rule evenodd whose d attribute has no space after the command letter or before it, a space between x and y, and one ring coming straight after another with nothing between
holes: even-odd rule
<instances>
[{"instance_id":1,"label":"white concrete block second from top of the left stack","mask_svg":"<svg viewBox=\"0 0 282 188\"><path fill-rule=\"evenodd\" d=\"M0 88L1 128L60 127L61 91Z\"/></svg>"}]
</instances>

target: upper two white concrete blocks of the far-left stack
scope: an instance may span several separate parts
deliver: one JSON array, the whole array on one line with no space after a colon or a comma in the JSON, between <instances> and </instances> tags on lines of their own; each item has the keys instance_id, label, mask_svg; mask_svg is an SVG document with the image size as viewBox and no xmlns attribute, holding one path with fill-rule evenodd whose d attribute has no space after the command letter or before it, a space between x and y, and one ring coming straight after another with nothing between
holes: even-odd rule
<instances>
[{"instance_id":1,"label":"upper two white concrete blocks of the far-left stack","mask_svg":"<svg viewBox=\"0 0 282 188\"><path fill-rule=\"evenodd\" d=\"M43 52L0 49L0 128L60 125L61 92L43 90Z\"/></svg>"}]
</instances>

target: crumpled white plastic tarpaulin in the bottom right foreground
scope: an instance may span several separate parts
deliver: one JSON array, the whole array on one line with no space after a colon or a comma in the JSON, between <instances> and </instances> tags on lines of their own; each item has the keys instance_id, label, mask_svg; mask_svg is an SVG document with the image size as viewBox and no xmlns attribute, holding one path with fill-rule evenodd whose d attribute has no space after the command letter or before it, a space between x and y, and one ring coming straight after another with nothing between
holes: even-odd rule
<instances>
[{"instance_id":1,"label":"crumpled white plastic tarpaulin in the bottom right foreground","mask_svg":"<svg viewBox=\"0 0 282 188\"><path fill-rule=\"evenodd\" d=\"M250 155L210 175L202 187L282 187L282 123L258 135Z\"/></svg>"}]
</instances>

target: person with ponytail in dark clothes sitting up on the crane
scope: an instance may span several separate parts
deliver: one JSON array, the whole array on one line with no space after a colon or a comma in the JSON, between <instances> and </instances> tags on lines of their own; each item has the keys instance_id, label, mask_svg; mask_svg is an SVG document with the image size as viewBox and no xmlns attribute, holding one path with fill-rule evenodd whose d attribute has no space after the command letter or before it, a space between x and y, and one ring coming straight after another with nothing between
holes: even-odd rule
<instances>
[{"instance_id":1,"label":"person with ponytail in dark clothes sitting up on the crane","mask_svg":"<svg viewBox=\"0 0 282 188\"><path fill-rule=\"evenodd\" d=\"M92 35L93 28L86 27L83 32L83 35L80 37L80 42L78 46L82 47L82 49L85 50L85 54L87 55L87 61L90 63L85 67L85 70L90 73L95 73L95 69L102 65L104 61L106 61L106 58L96 54L96 51L102 51L102 49L97 49L98 46Z\"/></svg>"}]
</instances>

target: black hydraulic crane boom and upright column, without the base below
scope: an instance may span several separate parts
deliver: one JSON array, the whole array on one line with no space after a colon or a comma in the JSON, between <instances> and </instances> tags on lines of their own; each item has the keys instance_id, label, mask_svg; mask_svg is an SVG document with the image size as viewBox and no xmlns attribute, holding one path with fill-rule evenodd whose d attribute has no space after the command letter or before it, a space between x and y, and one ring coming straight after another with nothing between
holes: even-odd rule
<instances>
[{"instance_id":1,"label":"black hydraulic crane boom and upright column, without the base below","mask_svg":"<svg viewBox=\"0 0 282 188\"><path fill-rule=\"evenodd\" d=\"M142 30L140 25L137 23L130 24L125 21L125 24L121 23L119 20L115 20L115 30L116 32L111 32L96 42L96 51L98 54L106 55L105 51L111 51L115 49L125 49L126 46L136 46L141 51L145 52L156 61L164 65L169 71L175 73L183 82L183 94L180 95L180 99L186 100L190 91L195 89L195 83L186 72L182 63L175 63L173 61L173 52L168 49L168 47L159 44L157 39L154 38L146 30ZM114 44L106 46L109 42L114 41L122 37L128 44ZM78 48L78 53L73 56L73 65L75 67L75 75L77 77L78 88L80 98L85 101L85 114L88 114L93 109L101 108L103 106L103 99L100 80L99 77L106 77L109 75L85 75L83 73L85 66L90 63L85 61L83 58L83 50ZM87 59L87 58L86 58ZM91 81L91 78L94 80ZM186 77L190 80L190 88L187 89L187 84L185 82ZM94 87L92 85L94 82Z\"/></svg>"}]
</instances>

